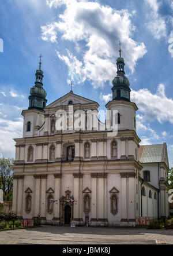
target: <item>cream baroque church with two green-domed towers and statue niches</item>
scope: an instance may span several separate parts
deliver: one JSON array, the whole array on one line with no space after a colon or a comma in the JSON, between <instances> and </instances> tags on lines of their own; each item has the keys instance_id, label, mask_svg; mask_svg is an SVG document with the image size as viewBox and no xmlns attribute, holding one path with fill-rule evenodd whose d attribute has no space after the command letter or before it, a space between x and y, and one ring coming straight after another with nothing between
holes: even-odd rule
<instances>
[{"instance_id":1,"label":"cream baroque church with two green-domed towers and statue niches","mask_svg":"<svg viewBox=\"0 0 173 256\"><path fill-rule=\"evenodd\" d=\"M57 129L57 111L96 111L99 104L74 94L46 106L41 63L24 116L23 136L16 141L13 211L18 218L63 225L76 220L91 226L135 226L137 217L168 217L166 143L140 147L135 103L125 62L117 59L112 100L118 133L99 129Z\"/></svg>"}]
</instances>

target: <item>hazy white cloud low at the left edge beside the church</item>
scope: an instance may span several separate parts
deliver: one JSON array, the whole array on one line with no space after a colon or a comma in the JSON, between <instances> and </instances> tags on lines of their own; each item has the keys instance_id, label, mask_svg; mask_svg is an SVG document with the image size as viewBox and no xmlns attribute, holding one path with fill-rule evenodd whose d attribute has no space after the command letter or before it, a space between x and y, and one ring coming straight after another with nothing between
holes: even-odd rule
<instances>
[{"instance_id":1,"label":"hazy white cloud low at the left edge beside the church","mask_svg":"<svg viewBox=\"0 0 173 256\"><path fill-rule=\"evenodd\" d=\"M15 142L13 138L21 137L23 119L17 121L5 120L0 118L0 154L1 156L14 158Z\"/></svg>"}]
</instances>

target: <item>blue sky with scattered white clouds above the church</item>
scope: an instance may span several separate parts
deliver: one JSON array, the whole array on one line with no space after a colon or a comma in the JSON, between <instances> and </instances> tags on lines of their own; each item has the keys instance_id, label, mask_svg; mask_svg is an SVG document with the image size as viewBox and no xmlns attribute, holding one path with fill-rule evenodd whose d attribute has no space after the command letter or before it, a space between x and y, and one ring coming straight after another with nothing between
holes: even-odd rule
<instances>
[{"instance_id":1,"label":"blue sky with scattered white clouds above the church","mask_svg":"<svg viewBox=\"0 0 173 256\"><path fill-rule=\"evenodd\" d=\"M14 157L40 53L47 104L68 93L73 79L74 93L104 109L121 40L141 144L167 142L172 166L172 0L0 0L0 6L0 156Z\"/></svg>"}]
</instances>

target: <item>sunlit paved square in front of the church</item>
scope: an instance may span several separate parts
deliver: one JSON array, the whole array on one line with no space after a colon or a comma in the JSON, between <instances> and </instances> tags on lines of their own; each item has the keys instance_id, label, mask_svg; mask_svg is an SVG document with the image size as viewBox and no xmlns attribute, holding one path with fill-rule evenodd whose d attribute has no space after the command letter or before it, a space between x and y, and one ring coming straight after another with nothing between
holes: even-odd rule
<instances>
[{"instance_id":1,"label":"sunlit paved square in front of the church","mask_svg":"<svg viewBox=\"0 0 173 256\"><path fill-rule=\"evenodd\" d=\"M173 229L42 226L1 231L0 244L173 244Z\"/></svg>"}]
</instances>

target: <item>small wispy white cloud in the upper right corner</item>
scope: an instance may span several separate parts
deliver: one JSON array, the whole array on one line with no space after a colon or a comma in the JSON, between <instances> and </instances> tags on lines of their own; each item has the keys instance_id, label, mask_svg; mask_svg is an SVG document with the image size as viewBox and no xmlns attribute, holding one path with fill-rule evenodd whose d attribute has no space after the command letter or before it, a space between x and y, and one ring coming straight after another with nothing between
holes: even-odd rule
<instances>
[{"instance_id":1,"label":"small wispy white cloud in the upper right corner","mask_svg":"<svg viewBox=\"0 0 173 256\"><path fill-rule=\"evenodd\" d=\"M148 29L156 39L167 36L166 20L158 12L161 3L157 2L157 0L145 0L145 2L151 8L151 12L148 14Z\"/></svg>"}]
</instances>

